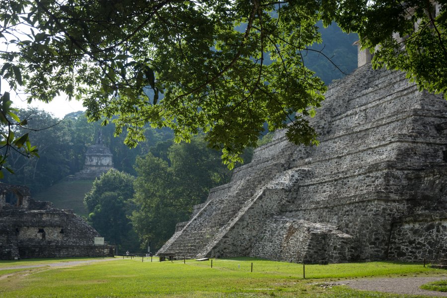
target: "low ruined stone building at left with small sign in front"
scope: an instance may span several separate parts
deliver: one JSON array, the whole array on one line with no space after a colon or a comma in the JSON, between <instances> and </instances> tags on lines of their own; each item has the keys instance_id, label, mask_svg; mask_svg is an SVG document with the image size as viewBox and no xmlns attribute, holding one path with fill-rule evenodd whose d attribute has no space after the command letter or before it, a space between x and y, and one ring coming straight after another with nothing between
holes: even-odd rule
<instances>
[{"instance_id":1,"label":"low ruined stone building at left with small sign in front","mask_svg":"<svg viewBox=\"0 0 447 298\"><path fill-rule=\"evenodd\" d=\"M70 210L34 201L26 187L0 183L0 260L113 256L98 232Z\"/></svg>"}]
</instances>

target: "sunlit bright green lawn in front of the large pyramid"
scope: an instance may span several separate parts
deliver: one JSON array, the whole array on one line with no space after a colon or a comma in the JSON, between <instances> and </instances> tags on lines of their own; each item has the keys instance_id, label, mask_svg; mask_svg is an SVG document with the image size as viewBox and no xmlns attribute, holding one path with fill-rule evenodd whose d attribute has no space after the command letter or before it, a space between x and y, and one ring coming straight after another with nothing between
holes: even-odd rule
<instances>
[{"instance_id":1,"label":"sunlit bright green lawn in front of the large pyramid","mask_svg":"<svg viewBox=\"0 0 447 298\"><path fill-rule=\"evenodd\" d=\"M349 278L441 275L422 264L370 262L306 265L235 258L197 262L158 262L157 258L111 259L61 266L73 260L0 261L0 297L404 297L350 290L323 289L318 283ZM253 272L251 271L253 263ZM39 268L2 270L13 266ZM409 296L410 297L410 296Z\"/></svg>"}]
</instances>

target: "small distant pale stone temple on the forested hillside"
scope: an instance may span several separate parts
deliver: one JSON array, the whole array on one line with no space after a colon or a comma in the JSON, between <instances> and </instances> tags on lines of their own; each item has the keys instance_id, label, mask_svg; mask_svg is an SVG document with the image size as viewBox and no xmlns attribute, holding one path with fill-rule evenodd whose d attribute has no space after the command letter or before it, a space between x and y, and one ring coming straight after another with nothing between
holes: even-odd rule
<instances>
[{"instance_id":1,"label":"small distant pale stone temple on the forested hillside","mask_svg":"<svg viewBox=\"0 0 447 298\"><path fill-rule=\"evenodd\" d=\"M104 145L102 133L99 132L96 144L88 147L85 152L84 167L80 172L69 177L74 180L93 180L113 168L113 155Z\"/></svg>"}]
</instances>

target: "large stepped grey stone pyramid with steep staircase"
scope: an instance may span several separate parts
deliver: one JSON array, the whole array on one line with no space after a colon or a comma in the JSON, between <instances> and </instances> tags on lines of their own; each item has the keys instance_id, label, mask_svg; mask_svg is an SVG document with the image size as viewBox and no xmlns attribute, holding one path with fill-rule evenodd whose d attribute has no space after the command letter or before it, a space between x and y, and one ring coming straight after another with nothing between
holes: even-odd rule
<instances>
[{"instance_id":1,"label":"large stepped grey stone pyramid with steep staircase","mask_svg":"<svg viewBox=\"0 0 447 298\"><path fill-rule=\"evenodd\" d=\"M365 62L368 59L361 57ZM447 254L447 102L371 64L332 83L311 119L211 190L160 256L289 262L428 261Z\"/></svg>"}]
</instances>

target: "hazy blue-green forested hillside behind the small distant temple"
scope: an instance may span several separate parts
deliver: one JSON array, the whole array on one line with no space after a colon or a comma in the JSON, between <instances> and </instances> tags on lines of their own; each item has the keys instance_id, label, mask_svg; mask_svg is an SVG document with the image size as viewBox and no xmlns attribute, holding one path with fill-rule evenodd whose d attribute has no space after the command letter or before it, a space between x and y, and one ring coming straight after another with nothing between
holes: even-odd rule
<instances>
[{"instance_id":1,"label":"hazy blue-green forested hillside behind the small distant temple","mask_svg":"<svg viewBox=\"0 0 447 298\"><path fill-rule=\"evenodd\" d=\"M39 158L27 158L11 151L8 166L14 173L5 173L3 182L26 185L32 194L47 189L82 169L85 151L95 143L102 131L105 144L113 153L114 167L135 175L134 163L138 155L149 152L159 142L172 140L169 129L145 128L146 142L135 149L124 145L124 136L114 137L114 125L101 127L100 122L88 123L83 112L66 115L63 120L37 109L21 109L18 112L29 118L27 128L18 128L17 134L29 133L33 145L39 149ZM34 131L37 130L37 131Z\"/></svg>"}]
</instances>

